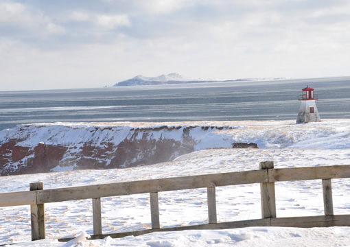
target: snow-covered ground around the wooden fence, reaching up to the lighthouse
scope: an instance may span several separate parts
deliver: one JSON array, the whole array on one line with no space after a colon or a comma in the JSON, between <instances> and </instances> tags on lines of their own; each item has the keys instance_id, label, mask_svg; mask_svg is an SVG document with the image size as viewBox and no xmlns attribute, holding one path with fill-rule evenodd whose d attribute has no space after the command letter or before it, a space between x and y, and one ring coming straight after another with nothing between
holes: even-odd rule
<instances>
[{"instance_id":1,"label":"snow-covered ground around the wooden fence, reaching up to the lighthouse","mask_svg":"<svg viewBox=\"0 0 350 247\"><path fill-rule=\"evenodd\" d=\"M259 169L274 161L275 168L350 165L350 119L319 123L295 121L233 121L234 130L220 134L234 142L257 143L259 149L215 148L206 139L198 151L175 161L110 170L52 172L0 177L0 193L27 191L41 181L45 189L147 180L175 176ZM227 122L226 122L227 124ZM211 148L211 149L207 149ZM213 149L215 148L215 149ZM275 183L277 217L323 215L321 180ZM216 188L218 221L261 218L259 184ZM350 214L350 179L332 180L334 213ZM150 228L148 194L102 198L102 231L115 233ZM205 224L206 189L159 193L161 227ZM30 242L30 207L0 208L0 244L15 246L350 246L350 227L253 227L226 230L151 233L138 237L85 242L93 234L91 200L45 204L47 239ZM60 243L61 237L76 237Z\"/></svg>"}]
</instances>

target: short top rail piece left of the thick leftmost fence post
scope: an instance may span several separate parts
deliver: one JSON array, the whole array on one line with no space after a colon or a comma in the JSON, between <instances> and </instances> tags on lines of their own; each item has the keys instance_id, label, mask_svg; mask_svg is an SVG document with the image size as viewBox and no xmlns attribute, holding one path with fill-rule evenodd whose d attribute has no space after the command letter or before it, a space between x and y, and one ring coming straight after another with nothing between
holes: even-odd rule
<instances>
[{"instance_id":1,"label":"short top rail piece left of the thick leftmost fence post","mask_svg":"<svg viewBox=\"0 0 350 247\"><path fill-rule=\"evenodd\" d=\"M0 207L36 204L35 191L0 193Z\"/></svg>"}]
</instances>

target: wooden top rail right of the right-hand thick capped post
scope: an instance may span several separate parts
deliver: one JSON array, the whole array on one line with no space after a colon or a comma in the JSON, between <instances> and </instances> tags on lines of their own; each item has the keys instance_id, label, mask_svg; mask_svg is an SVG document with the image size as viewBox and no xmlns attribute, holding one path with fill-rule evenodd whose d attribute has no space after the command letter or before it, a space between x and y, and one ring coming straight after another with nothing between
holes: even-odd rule
<instances>
[{"instance_id":1,"label":"wooden top rail right of the right-hand thick capped post","mask_svg":"<svg viewBox=\"0 0 350 247\"><path fill-rule=\"evenodd\" d=\"M350 165L272 169L268 178L270 182L350 178Z\"/></svg>"}]
</instances>

